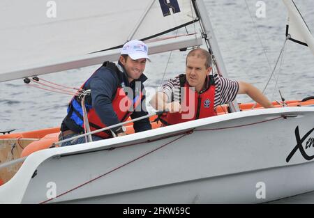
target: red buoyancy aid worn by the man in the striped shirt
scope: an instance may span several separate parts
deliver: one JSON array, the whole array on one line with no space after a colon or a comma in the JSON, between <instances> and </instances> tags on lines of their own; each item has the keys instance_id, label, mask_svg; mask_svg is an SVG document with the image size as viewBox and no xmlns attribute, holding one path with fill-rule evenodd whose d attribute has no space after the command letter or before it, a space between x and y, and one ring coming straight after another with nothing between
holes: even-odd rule
<instances>
[{"instance_id":1,"label":"red buoyancy aid worn by the man in the striped shirt","mask_svg":"<svg viewBox=\"0 0 314 218\"><path fill-rule=\"evenodd\" d=\"M168 112L160 117L160 121L164 125L173 125L190 120L197 120L199 118L216 116L217 113L214 111L216 87L214 84L214 77L209 77L209 79L211 79L211 81L209 81L209 88L201 93L197 93L193 88L190 88L187 82L184 82L184 86L181 86L182 112Z\"/></svg>"}]
</instances>

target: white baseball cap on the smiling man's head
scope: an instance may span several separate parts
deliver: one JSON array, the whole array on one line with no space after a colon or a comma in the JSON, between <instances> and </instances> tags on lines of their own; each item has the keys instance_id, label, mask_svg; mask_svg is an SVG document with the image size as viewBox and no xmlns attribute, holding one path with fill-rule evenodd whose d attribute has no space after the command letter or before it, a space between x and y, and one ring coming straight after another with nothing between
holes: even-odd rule
<instances>
[{"instance_id":1,"label":"white baseball cap on the smiling man's head","mask_svg":"<svg viewBox=\"0 0 314 218\"><path fill-rule=\"evenodd\" d=\"M137 59L149 59L148 56L148 47L147 45L140 41L140 40L131 40L129 42L126 42L124 44L124 47L121 49L121 54L128 54L131 59L137 60Z\"/></svg>"}]
</instances>

